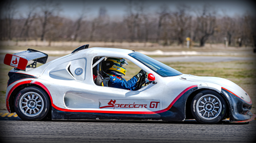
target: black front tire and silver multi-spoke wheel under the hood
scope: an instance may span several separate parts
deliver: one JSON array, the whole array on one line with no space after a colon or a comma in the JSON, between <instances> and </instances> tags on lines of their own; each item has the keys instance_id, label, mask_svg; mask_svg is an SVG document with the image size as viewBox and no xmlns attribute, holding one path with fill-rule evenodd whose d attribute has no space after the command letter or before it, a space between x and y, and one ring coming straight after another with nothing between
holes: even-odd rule
<instances>
[{"instance_id":1,"label":"black front tire and silver multi-spoke wheel under the hood","mask_svg":"<svg viewBox=\"0 0 256 143\"><path fill-rule=\"evenodd\" d=\"M227 110L225 99L217 92L199 92L191 103L194 118L202 124L216 124L223 120Z\"/></svg>"}]
</instances>

